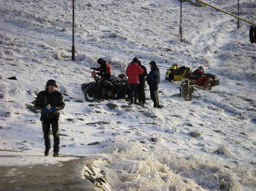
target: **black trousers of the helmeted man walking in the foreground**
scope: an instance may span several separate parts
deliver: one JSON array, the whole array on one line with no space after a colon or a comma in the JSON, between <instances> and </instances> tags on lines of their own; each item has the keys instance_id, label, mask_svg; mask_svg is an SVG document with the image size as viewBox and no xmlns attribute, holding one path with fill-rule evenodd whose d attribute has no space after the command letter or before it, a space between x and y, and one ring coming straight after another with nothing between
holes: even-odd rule
<instances>
[{"instance_id":1,"label":"black trousers of the helmeted man walking in the foreground","mask_svg":"<svg viewBox=\"0 0 256 191\"><path fill-rule=\"evenodd\" d=\"M42 121L42 130L44 132L44 145L46 148L51 148L51 139L50 139L50 127L53 130L53 150L59 151L60 149L60 134L58 133L58 119L56 118L45 118L44 116L41 117Z\"/></svg>"}]
</instances>

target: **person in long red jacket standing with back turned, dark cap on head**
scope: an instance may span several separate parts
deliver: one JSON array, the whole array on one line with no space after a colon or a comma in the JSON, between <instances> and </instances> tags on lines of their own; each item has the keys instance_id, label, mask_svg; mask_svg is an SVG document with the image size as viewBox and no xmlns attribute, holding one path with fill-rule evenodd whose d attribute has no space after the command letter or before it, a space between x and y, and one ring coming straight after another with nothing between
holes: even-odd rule
<instances>
[{"instance_id":1,"label":"person in long red jacket standing with back turned, dark cap on head","mask_svg":"<svg viewBox=\"0 0 256 191\"><path fill-rule=\"evenodd\" d=\"M128 86L130 89L130 98L131 102L137 104L137 97L138 97L138 86L139 86L139 75L142 74L144 70L141 66L138 65L137 57L133 58L132 63L126 68L126 75L128 77Z\"/></svg>"}]
</instances>

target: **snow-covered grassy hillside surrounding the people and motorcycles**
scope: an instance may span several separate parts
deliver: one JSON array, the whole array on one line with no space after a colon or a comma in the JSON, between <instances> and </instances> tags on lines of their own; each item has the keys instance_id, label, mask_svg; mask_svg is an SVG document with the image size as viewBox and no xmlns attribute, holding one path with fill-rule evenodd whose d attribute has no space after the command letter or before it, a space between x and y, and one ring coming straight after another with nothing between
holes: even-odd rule
<instances>
[{"instance_id":1,"label":"snow-covered grassy hillside surrounding the people and motorcycles","mask_svg":"<svg viewBox=\"0 0 256 191\"><path fill-rule=\"evenodd\" d=\"M235 3L213 4L236 13ZM184 3L179 43L178 5L76 1L72 62L71 1L0 1L0 164L55 164L96 155L99 160L85 170L107 180L101 185L107 190L256 190L256 45L249 42L249 26L241 22L237 29L228 15ZM241 17L255 22L255 11L256 1L241 1ZM148 70L149 61L157 61L163 109L153 109L151 100L146 108L130 108L124 100L85 102L80 86L93 80L89 67L99 57L118 75L135 56ZM179 83L164 80L173 63L204 66L220 85L185 102ZM7 79L12 76L17 80ZM65 93L60 158L43 157L40 114L31 108L48 79Z\"/></svg>"}]
</instances>

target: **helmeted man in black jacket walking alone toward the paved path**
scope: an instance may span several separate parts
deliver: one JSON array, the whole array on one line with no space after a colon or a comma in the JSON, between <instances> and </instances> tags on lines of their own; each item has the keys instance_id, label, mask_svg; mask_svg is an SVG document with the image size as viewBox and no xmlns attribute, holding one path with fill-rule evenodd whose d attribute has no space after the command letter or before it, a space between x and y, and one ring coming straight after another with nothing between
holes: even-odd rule
<instances>
[{"instance_id":1,"label":"helmeted man in black jacket walking alone toward the paved path","mask_svg":"<svg viewBox=\"0 0 256 191\"><path fill-rule=\"evenodd\" d=\"M57 83L55 80L48 80L46 83L46 90L40 91L35 100L35 107L40 109L42 121L42 130L44 132L44 145L46 150L44 155L49 154L51 148L50 139L50 126L53 130L53 157L58 157L60 150L60 135L58 133L58 119L60 116L60 110L64 109L65 103L62 93L56 91Z\"/></svg>"}]
</instances>

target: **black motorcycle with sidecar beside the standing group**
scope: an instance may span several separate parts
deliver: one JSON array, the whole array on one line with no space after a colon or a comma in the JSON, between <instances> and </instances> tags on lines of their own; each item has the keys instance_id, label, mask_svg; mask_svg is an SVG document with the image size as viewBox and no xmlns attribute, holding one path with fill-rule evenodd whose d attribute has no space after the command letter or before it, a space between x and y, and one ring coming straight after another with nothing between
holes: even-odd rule
<instances>
[{"instance_id":1,"label":"black motorcycle with sidecar beside the standing group","mask_svg":"<svg viewBox=\"0 0 256 191\"><path fill-rule=\"evenodd\" d=\"M128 96L127 78L111 76L111 79L100 79L96 72L92 72L95 82L81 84L87 102L93 102L96 98L121 99ZM123 79L122 79L123 78Z\"/></svg>"}]
</instances>

